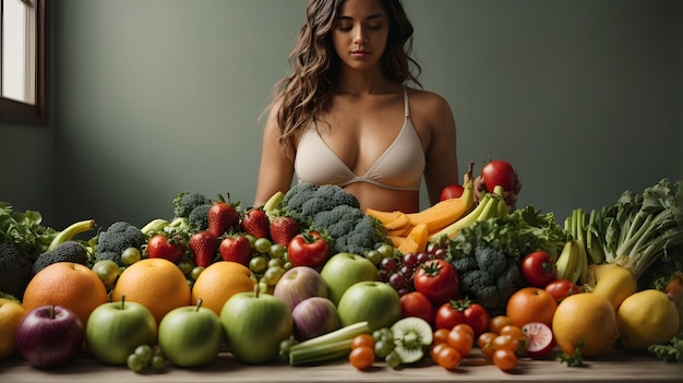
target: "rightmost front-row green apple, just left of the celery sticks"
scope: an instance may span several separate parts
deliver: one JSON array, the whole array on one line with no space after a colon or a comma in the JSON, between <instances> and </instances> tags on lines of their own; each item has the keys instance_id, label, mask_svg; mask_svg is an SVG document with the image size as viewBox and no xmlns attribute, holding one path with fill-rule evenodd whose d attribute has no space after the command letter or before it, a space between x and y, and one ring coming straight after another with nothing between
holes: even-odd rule
<instances>
[{"instance_id":1,"label":"rightmost front-row green apple, just left of the celery sticks","mask_svg":"<svg viewBox=\"0 0 683 383\"><path fill-rule=\"evenodd\" d=\"M289 304L268 294L238 292L220 310L227 348L247 363L264 363L279 355L293 331Z\"/></svg>"}]
</instances>

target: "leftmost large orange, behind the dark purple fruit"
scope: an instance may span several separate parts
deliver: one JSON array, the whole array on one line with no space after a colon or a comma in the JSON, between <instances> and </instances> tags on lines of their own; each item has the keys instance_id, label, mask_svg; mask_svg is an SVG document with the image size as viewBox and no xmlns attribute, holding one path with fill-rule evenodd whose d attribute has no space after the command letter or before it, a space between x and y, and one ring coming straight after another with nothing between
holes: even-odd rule
<instances>
[{"instance_id":1,"label":"leftmost large orange, behind the dark purple fruit","mask_svg":"<svg viewBox=\"0 0 683 383\"><path fill-rule=\"evenodd\" d=\"M79 263L58 262L31 279L22 303L24 313L47 304L64 307L85 325L91 312L107 301L107 288L95 272Z\"/></svg>"}]
</instances>

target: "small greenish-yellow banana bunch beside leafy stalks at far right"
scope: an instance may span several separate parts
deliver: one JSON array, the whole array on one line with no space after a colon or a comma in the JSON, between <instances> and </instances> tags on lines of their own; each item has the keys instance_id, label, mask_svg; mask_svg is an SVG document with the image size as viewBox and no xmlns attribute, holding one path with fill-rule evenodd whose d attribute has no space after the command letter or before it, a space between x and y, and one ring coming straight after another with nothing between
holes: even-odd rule
<instances>
[{"instance_id":1,"label":"small greenish-yellow banana bunch beside leafy stalks at far right","mask_svg":"<svg viewBox=\"0 0 683 383\"><path fill-rule=\"evenodd\" d=\"M595 211L589 216L589 223L595 219ZM604 252L595 232L586 224L586 213L582 208L572 211L572 216L564 220L564 231L571 239L558 256L555 266L558 279L570 279L577 285L584 285L588 277L588 264L601 264Z\"/></svg>"}]
</instances>

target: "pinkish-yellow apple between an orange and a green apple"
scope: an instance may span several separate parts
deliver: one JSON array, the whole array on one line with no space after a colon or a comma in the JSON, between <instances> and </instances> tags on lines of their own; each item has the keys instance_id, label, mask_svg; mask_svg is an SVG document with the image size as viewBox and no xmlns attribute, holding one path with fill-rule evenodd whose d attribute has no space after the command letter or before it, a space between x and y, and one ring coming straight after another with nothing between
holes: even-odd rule
<instances>
[{"instance_id":1,"label":"pinkish-yellow apple between an orange and a green apple","mask_svg":"<svg viewBox=\"0 0 683 383\"><path fill-rule=\"evenodd\" d=\"M327 285L320 273L309 266L295 266L279 278L273 295L284 300L290 310L311 297L327 298Z\"/></svg>"}]
</instances>

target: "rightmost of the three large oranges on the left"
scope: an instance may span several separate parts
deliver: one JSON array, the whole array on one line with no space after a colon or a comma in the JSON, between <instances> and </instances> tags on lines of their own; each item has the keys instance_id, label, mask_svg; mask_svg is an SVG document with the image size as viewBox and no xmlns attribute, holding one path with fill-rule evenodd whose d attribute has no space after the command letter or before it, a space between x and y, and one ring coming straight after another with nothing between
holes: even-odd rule
<instances>
[{"instance_id":1,"label":"rightmost of the three large oranges on the left","mask_svg":"<svg viewBox=\"0 0 683 383\"><path fill-rule=\"evenodd\" d=\"M192 304L202 306L220 316L225 302L237 292L253 291L256 279L249 267L237 263L214 262L200 273L192 286Z\"/></svg>"}]
</instances>

